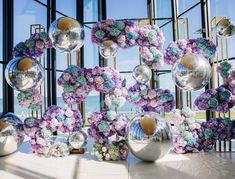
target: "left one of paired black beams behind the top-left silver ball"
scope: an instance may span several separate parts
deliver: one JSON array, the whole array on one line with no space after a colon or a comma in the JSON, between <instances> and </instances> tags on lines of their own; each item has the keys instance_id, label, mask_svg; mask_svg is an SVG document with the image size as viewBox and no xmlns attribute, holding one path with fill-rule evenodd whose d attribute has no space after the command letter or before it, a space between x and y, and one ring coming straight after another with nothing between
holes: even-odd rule
<instances>
[{"instance_id":1,"label":"left one of paired black beams behind the top-left silver ball","mask_svg":"<svg viewBox=\"0 0 235 179\"><path fill-rule=\"evenodd\" d=\"M47 1L47 31L51 24L51 1ZM47 49L47 105L51 106L51 49Z\"/></svg>"}]
</instances>

